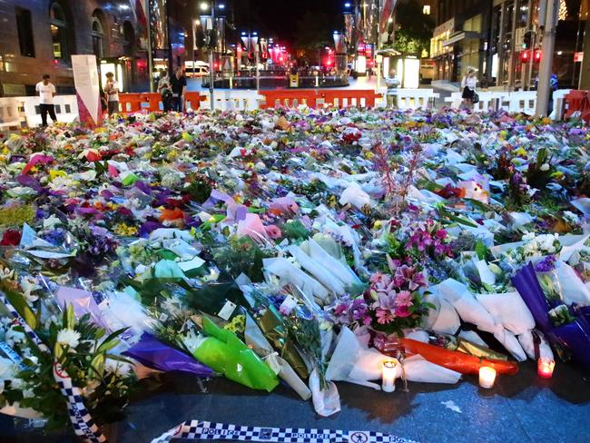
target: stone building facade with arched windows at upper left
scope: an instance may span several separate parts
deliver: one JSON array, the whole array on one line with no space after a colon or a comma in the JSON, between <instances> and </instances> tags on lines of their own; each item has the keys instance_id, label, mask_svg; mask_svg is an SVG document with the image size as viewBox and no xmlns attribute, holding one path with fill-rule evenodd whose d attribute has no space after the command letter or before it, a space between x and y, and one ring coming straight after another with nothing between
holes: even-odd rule
<instances>
[{"instance_id":1,"label":"stone building facade with arched windows at upper left","mask_svg":"<svg viewBox=\"0 0 590 443\"><path fill-rule=\"evenodd\" d=\"M50 74L59 94L74 91L72 54L95 54L125 91L148 84L146 38L134 0L0 2L0 95L34 94ZM149 87L149 86L148 86Z\"/></svg>"}]
</instances>

